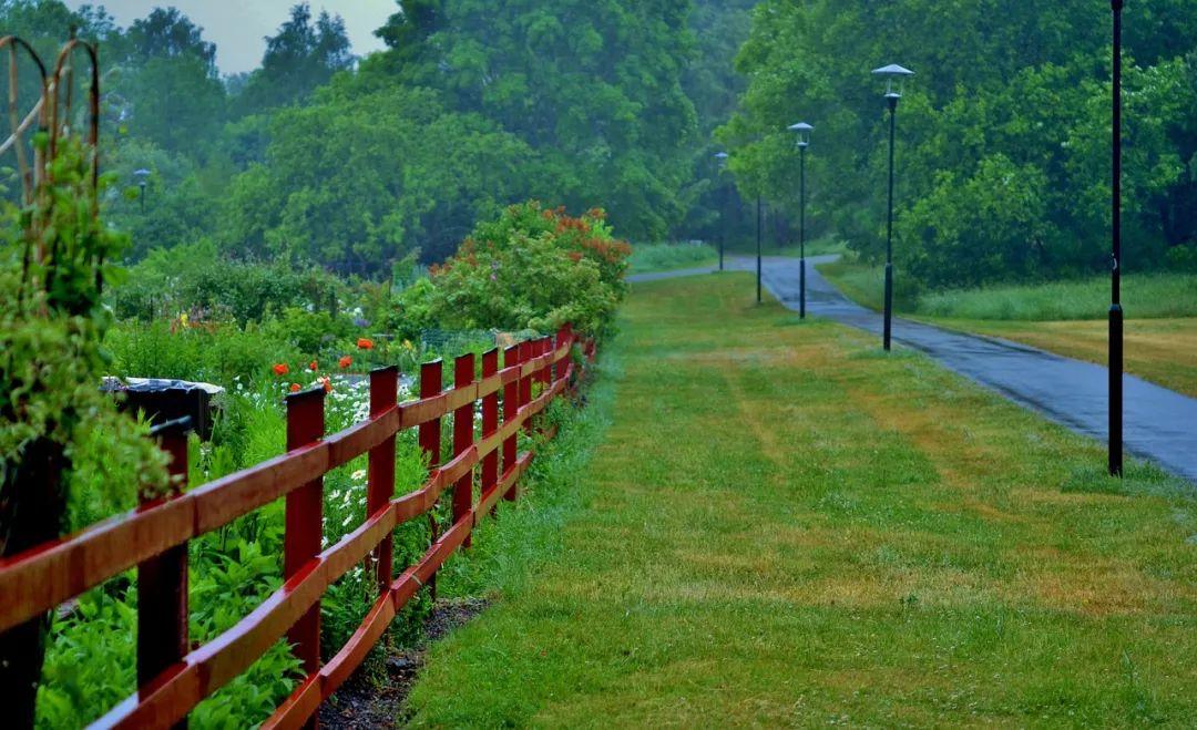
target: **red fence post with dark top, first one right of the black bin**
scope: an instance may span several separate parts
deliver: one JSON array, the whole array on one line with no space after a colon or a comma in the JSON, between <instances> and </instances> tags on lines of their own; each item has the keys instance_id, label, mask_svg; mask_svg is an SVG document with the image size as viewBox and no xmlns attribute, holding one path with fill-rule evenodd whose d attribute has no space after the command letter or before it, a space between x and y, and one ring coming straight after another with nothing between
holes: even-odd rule
<instances>
[{"instance_id":1,"label":"red fence post with dark top, first one right of the black bin","mask_svg":"<svg viewBox=\"0 0 1197 730\"><path fill-rule=\"evenodd\" d=\"M287 451L324 438L324 389L312 388L287 396ZM287 494L282 579L290 580L320 554L324 534L324 476L320 475ZM320 671L320 601L287 631L304 673ZM315 726L315 720L310 726Z\"/></svg>"}]
</instances>

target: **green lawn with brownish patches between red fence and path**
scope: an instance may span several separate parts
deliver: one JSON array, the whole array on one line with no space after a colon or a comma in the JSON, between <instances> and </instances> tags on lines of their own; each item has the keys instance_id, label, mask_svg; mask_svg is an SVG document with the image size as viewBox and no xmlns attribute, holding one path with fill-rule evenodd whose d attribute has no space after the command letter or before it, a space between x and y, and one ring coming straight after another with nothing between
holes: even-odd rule
<instances>
[{"instance_id":1,"label":"green lawn with brownish patches between red fence and path","mask_svg":"<svg viewBox=\"0 0 1197 730\"><path fill-rule=\"evenodd\" d=\"M557 547L512 552L406 719L1191 724L1191 492L747 280L636 288Z\"/></svg>"}]
</instances>

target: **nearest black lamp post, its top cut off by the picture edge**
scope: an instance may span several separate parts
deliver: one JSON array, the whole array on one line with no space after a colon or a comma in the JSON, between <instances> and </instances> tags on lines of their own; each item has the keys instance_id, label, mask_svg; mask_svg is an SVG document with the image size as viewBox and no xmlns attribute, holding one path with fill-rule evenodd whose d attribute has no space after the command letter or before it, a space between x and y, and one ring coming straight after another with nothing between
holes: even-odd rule
<instances>
[{"instance_id":1,"label":"nearest black lamp post, its top cut off by the picture edge","mask_svg":"<svg viewBox=\"0 0 1197 730\"><path fill-rule=\"evenodd\" d=\"M1123 0L1110 0L1113 12L1113 181L1110 279L1110 475L1123 473L1123 309L1122 309L1122 11Z\"/></svg>"}]
</instances>

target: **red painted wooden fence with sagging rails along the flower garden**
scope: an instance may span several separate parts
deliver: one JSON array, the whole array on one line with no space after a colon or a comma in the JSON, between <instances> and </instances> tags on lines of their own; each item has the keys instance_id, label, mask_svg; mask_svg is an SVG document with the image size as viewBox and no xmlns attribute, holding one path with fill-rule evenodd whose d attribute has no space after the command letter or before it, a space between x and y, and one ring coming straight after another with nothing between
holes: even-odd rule
<instances>
[{"instance_id":1,"label":"red painted wooden fence with sagging rails along the flower garden","mask_svg":"<svg viewBox=\"0 0 1197 730\"><path fill-rule=\"evenodd\" d=\"M442 389L442 364L420 370L420 399L397 403L399 371L370 375L370 419L324 436L324 393L290 396L287 452L237 474L186 491L180 481L166 498L66 537L0 561L0 632L43 615L134 566L138 568L139 691L101 718L97 726L166 728L249 668L279 638L287 637L306 674L266 728L315 724L320 704L361 664L390 621L460 546L468 546L479 519L499 499L515 499L533 454L517 454L519 428L571 388L576 375L570 353L582 347L594 358L593 341L569 328L482 355L474 378L474 355L457 358L454 384ZM541 385L533 399L533 384ZM499 422L502 394L503 422ZM474 438L474 406L482 403L482 436ZM440 420L454 418L452 458L439 464ZM432 464L415 492L395 497L395 437L419 428L419 443ZM187 436L160 430L171 455L171 473L187 474ZM323 476L369 455L366 521L336 545L321 549ZM500 462L502 457L502 462ZM474 472L481 497L473 501ZM391 534L429 513L445 491L452 492L452 527L435 535L427 553L399 577L393 571ZM237 625L198 647L188 638L187 542L229 524L275 499L286 499L282 588ZM321 665L320 601L329 585L373 558L378 598L350 641Z\"/></svg>"}]
</instances>

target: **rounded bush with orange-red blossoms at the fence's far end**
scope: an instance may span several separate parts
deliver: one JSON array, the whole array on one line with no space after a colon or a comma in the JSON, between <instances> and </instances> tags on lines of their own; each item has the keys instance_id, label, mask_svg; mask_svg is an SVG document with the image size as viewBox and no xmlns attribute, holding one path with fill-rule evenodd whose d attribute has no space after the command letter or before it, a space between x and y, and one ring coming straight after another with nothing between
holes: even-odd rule
<instances>
[{"instance_id":1,"label":"rounded bush with orange-red blossoms at the fence's far end","mask_svg":"<svg viewBox=\"0 0 1197 730\"><path fill-rule=\"evenodd\" d=\"M549 331L569 322L602 335L626 293L630 255L600 209L571 218L537 202L511 206L435 267L424 300L408 305L426 303L446 328Z\"/></svg>"}]
</instances>

